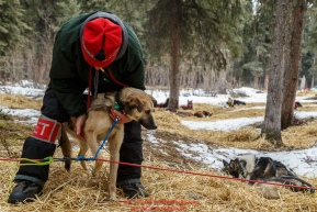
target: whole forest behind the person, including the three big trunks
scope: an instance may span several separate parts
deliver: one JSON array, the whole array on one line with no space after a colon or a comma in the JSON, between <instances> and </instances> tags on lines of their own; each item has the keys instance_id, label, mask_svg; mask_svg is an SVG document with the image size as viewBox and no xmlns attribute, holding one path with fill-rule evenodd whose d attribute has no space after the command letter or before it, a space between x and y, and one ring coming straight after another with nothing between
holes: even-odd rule
<instances>
[{"instance_id":1,"label":"whole forest behind the person, including the three big trunks","mask_svg":"<svg viewBox=\"0 0 317 212\"><path fill-rule=\"evenodd\" d=\"M282 146L296 89L315 86L316 0L0 0L0 79L48 82L54 38L71 18L115 13L138 35L147 88L268 91L261 135Z\"/></svg>"}]
</instances>

